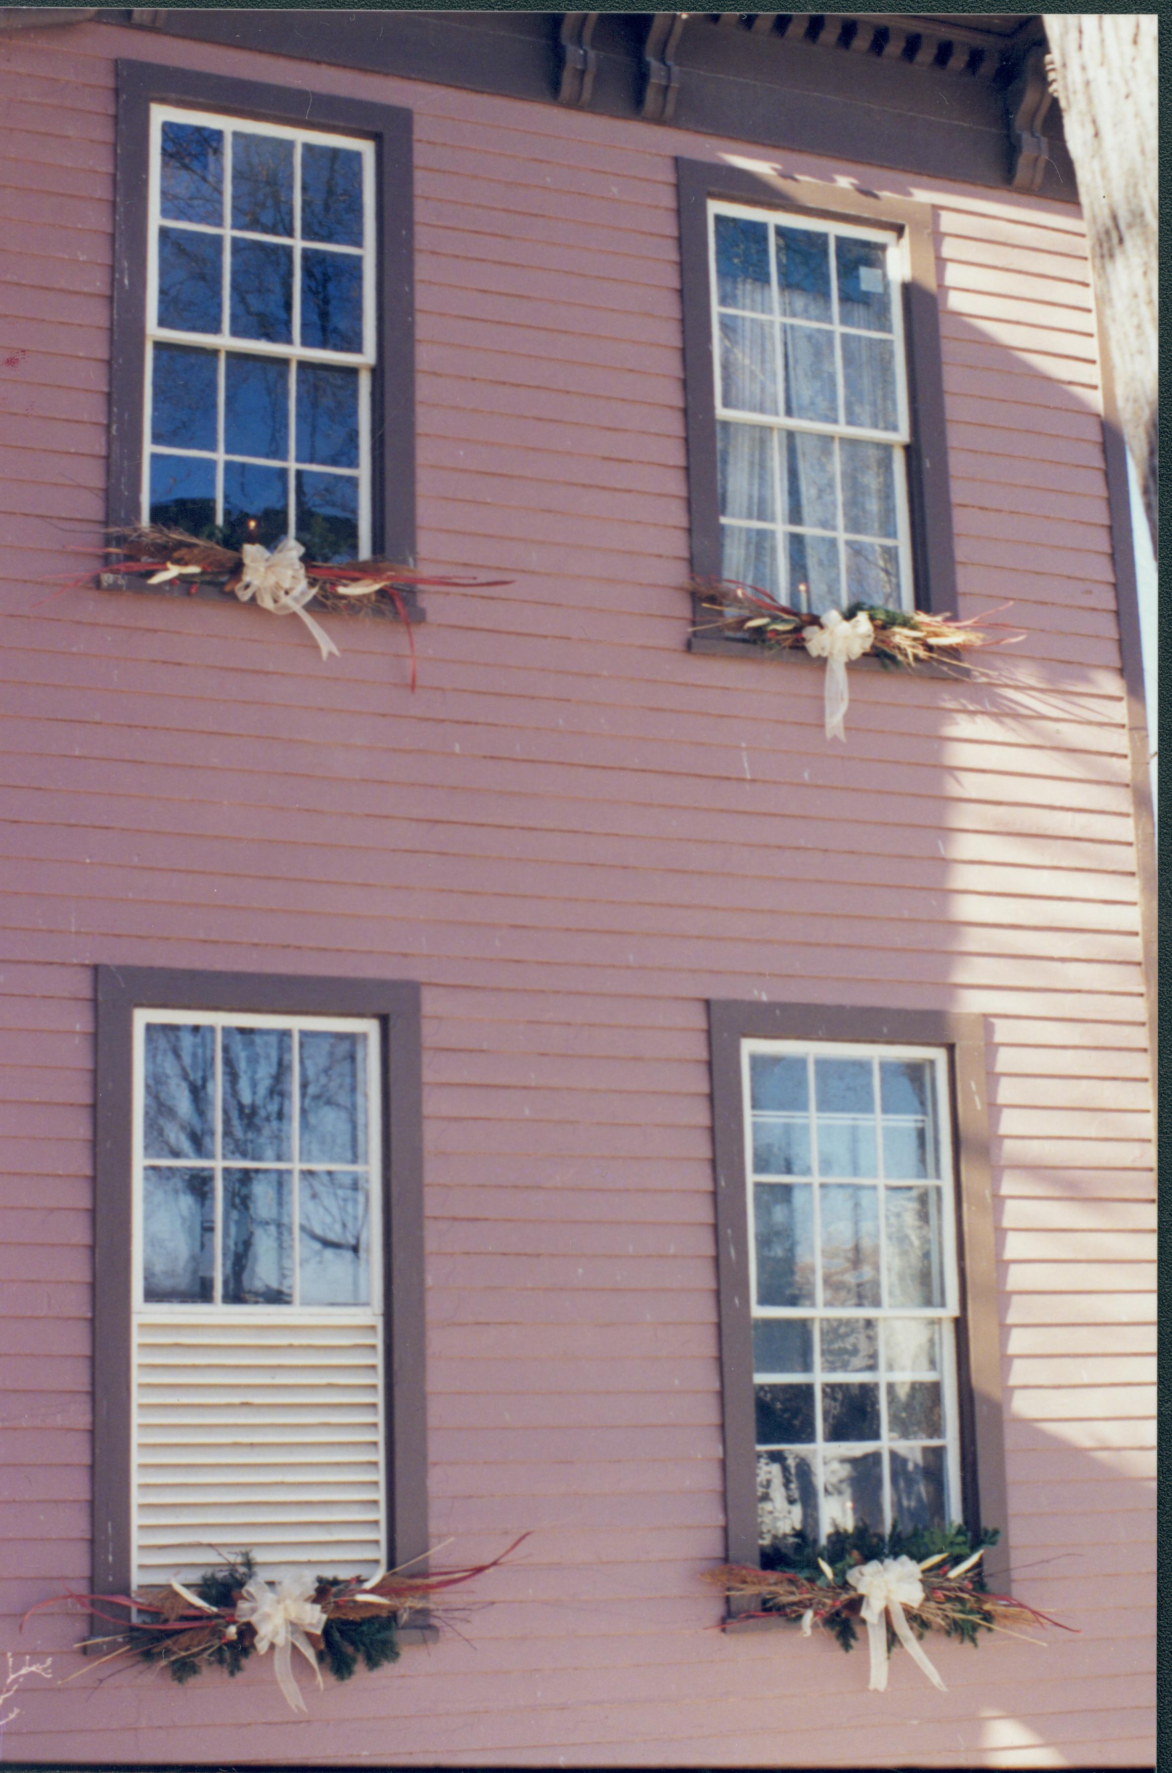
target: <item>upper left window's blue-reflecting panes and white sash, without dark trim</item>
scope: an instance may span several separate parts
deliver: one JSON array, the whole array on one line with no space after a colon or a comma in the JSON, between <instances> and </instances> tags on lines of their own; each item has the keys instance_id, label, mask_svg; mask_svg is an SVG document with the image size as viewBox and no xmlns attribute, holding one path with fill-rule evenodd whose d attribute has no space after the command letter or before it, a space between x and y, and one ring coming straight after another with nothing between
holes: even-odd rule
<instances>
[{"instance_id":1,"label":"upper left window's blue-reflecting panes and white sash, without dark trim","mask_svg":"<svg viewBox=\"0 0 1172 1773\"><path fill-rule=\"evenodd\" d=\"M151 106L142 512L371 553L374 145Z\"/></svg>"}]
</instances>

